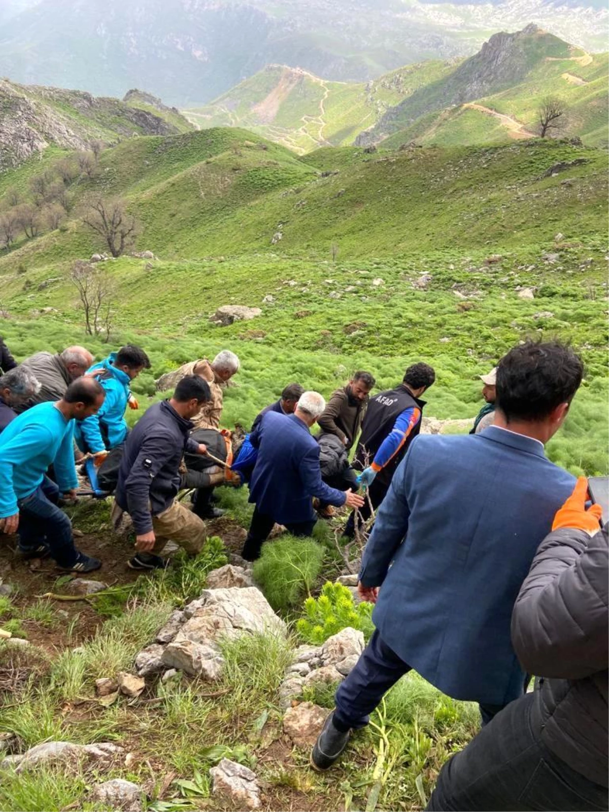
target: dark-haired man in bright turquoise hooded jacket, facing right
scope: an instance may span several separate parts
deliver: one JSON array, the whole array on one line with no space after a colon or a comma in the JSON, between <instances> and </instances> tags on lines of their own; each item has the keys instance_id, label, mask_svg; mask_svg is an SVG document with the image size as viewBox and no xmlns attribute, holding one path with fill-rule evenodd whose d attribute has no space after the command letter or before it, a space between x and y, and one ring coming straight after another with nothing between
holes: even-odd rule
<instances>
[{"instance_id":1,"label":"dark-haired man in bright turquoise hooded jacket, facing right","mask_svg":"<svg viewBox=\"0 0 609 812\"><path fill-rule=\"evenodd\" d=\"M129 386L142 369L149 369L150 361L143 349L127 344L119 352L110 355L87 370L87 377L94 378L106 392L102 408L76 426L74 436L81 451L93 454L102 464L108 451L116 448L127 437L125 410L138 408Z\"/></svg>"}]
</instances>

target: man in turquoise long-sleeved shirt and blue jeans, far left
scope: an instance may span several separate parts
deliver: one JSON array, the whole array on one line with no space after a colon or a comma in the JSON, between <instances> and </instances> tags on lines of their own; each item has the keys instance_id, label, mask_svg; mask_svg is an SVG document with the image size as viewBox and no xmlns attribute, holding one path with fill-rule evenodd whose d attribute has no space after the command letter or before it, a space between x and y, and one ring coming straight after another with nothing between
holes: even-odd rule
<instances>
[{"instance_id":1,"label":"man in turquoise long-sleeved shirt and blue jeans, far left","mask_svg":"<svg viewBox=\"0 0 609 812\"><path fill-rule=\"evenodd\" d=\"M77 378L62 400L33 406L0 434L0 533L19 532L24 557L51 555L74 572L102 566L76 550L70 520L57 502L60 493L73 497L78 487L75 421L95 414L104 397L93 378ZM51 464L57 485L45 476Z\"/></svg>"}]
</instances>

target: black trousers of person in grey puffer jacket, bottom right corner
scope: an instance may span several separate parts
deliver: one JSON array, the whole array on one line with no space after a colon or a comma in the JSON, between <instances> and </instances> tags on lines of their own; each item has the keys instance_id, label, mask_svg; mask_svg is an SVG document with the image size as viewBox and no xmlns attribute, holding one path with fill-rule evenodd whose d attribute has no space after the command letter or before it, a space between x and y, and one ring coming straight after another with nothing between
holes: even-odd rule
<instances>
[{"instance_id":1,"label":"black trousers of person in grey puffer jacket, bottom right corner","mask_svg":"<svg viewBox=\"0 0 609 812\"><path fill-rule=\"evenodd\" d=\"M602 812L609 789L551 753L532 724L528 693L511 702L438 777L425 812Z\"/></svg>"}]
</instances>

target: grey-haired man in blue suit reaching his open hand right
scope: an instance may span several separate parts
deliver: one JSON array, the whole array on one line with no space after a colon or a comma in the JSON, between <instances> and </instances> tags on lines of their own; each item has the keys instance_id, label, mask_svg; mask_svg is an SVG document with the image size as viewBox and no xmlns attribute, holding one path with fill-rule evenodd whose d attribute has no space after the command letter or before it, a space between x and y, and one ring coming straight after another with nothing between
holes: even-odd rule
<instances>
[{"instance_id":1,"label":"grey-haired man in blue suit reaching his open hand right","mask_svg":"<svg viewBox=\"0 0 609 812\"><path fill-rule=\"evenodd\" d=\"M317 392L304 392L294 414L266 412L250 442L258 449L256 467L249 488L249 501L256 508L241 553L244 559L258 558L273 525L285 525L295 536L310 536L317 521L313 496L331 505L361 508L364 499L348 490L322 482L319 445L310 428L326 402Z\"/></svg>"}]
</instances>

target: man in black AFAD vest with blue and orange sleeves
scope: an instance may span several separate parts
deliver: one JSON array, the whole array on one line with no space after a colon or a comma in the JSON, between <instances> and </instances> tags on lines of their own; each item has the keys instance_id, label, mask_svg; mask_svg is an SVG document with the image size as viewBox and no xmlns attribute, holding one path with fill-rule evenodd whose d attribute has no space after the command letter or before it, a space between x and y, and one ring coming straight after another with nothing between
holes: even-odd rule
<instances>
[{"instance_id":1,"label":"man in black AFAD vest with blue and orange sleeves","mask_svg":"<svg viewBox=\"0 0 609 812\"><path fill-rule=\"evenodd\" d=\"M404 373L400 386L379 392L369 402L357 443L355 468L362 470L359 482L368 489L369 501L378 508L387 495L393 475L404 459L412 440L421 431L425 400L421 395L435 381L434 368L429 364L412 364ZM361 509L362 520L369 519L366 501ZM355 533L355 513L349 516L344 534Z\"/></svg>"}]
</instances>

